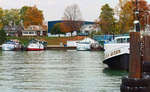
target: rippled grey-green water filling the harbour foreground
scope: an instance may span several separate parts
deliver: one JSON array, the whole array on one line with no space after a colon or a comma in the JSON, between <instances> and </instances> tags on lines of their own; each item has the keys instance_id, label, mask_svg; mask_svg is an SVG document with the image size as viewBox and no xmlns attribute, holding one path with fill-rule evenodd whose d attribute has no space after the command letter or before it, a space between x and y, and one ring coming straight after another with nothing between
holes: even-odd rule
<instances>
[{"instance_id":1,"label":"rippled grey-green water filling the harbour foreground","mask_svg":"<svg viewBox=\"0 0 150 92\"><path fill-rule=\"evenodd\" d=\"M2 92L120 92L123 71L106 69L103 52L0 51Z\"/></svg>"}]
</instances>

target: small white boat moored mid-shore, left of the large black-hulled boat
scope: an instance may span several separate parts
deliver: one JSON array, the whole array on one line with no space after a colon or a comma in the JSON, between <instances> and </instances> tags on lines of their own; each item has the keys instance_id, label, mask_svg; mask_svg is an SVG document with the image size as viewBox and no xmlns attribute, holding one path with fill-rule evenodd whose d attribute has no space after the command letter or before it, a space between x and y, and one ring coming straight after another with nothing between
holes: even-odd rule
<instances>
[{"instance_id":1,"label":"small white boat moored mid-shore, left of the large black-hulled boat","mask_svg":"<svg viewBox=\"0 0 150 92\"><path fill-rule=\"evenodd\" d=\"M78 42L77 44L77 50L78 51L88 51L91 49L91 44L89 42Z\"/></svg>"}]
</instances>

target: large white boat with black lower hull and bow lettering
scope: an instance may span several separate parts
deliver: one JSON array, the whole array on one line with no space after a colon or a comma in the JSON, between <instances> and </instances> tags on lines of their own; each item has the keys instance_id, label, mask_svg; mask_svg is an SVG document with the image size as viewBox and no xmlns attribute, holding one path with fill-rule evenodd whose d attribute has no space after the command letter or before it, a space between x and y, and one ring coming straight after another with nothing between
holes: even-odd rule
<instances>
[{"instance_id":1,"label":"large white boat with black lower hull and bow lettering","mask_svg":"<svg viewBox=\"0 0 150 92\"><path fill-rule=\"evenodd\" d=\"M111 69L129 69L129 36L115 37L109 43L104 44L104 64Z\"/></svg>"}]
</instances>

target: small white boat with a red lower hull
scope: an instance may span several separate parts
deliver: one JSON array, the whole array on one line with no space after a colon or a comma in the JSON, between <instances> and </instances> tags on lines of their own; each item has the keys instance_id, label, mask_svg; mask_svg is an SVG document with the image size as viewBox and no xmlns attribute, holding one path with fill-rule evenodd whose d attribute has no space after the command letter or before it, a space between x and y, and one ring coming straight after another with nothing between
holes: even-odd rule
<instances>
[{"instance_id":1,"label":"small white boat with a red lower hull","mask_svg":"<svg viewBox=\"0 0 150 92\"><path fill-rule=\"evenodd\" d=\"M26 50L27 51L40 51L45 50L46 46L44 45L43 41L32 39L29 41Z\"/></svg>"}]
</instances>

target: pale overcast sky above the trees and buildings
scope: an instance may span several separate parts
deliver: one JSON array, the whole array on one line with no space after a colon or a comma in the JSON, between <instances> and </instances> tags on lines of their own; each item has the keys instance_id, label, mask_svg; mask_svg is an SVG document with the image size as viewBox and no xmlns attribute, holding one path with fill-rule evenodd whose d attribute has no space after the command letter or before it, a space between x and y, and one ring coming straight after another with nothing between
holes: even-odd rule
<instances>
[{"instance_id":1,"label":"pale overcast sky above the trees and buildings","mask_svg":"<svg viewBox=\"0 0 150 92\"><path fill-rule=\"evenodd\" d=\"M60 20L68 5L77 4L81 10L83 20L94 21L100 14L102 5L108 3L116 7L119 0L0 0L3 9L21 8L24 5L36 5L43 11L46 21ZM150 3L150 0L147 0Z\"/></svg>"}]
</instances>

